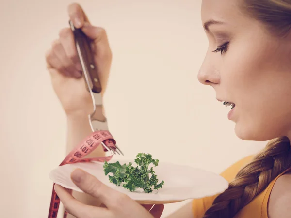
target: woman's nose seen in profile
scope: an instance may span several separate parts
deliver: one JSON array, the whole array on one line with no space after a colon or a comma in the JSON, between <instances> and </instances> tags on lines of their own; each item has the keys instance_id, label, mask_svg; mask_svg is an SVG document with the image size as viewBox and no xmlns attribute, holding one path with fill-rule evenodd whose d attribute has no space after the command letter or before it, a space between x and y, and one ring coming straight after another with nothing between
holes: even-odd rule
<instances>
[{"instance_id":1,"label":"woman's nose seen in profile","mask_svg":"<svg viewBox=\"0 0 291 218\"><path fill-rule=\"evenodd\" d=\"M198 72L197 78L203 85L214 85L220 83L220 73L215 67L213 62L205 59L200 70Z\"/></svg>"}]
</instances>

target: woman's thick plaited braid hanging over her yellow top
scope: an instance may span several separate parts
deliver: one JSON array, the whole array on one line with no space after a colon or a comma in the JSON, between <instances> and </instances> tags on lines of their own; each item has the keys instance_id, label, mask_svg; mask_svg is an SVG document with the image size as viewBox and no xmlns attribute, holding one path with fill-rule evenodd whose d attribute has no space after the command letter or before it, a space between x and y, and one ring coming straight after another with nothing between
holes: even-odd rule
<instances>
[{"instance_id":1,"label":"woman's thick plaited braid hanging over her yellow top","mask_svg":"<svg viewBox=\"0 0 291 218\"><path fill-rule=\"evenodd\" d=\"M203 218L232 218L259 195L280 173L291 167L287 137L270 141L253 161L242 168L228 189L218 195Z\"/></svg>"}]
</instances>

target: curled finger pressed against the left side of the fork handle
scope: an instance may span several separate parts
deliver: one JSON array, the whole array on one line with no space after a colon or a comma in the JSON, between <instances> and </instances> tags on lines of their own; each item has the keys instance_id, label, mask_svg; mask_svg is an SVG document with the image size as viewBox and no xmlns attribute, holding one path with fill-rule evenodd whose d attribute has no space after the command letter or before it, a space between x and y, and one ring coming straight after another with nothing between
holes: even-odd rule
<instances>
[{"instance_id":1,"label":"curled finger pressed against the left side of the fork handle","mask_svg":"<svg viewBox=\"0 0 291 218\"><path fill-rule=\"evenodd\" d=\"M64 28L59 32L60 42L65 50L66 56L73 62L77 70L82 71L81 62L77 54L73 31Z\"/></svg>"}]
</instances>

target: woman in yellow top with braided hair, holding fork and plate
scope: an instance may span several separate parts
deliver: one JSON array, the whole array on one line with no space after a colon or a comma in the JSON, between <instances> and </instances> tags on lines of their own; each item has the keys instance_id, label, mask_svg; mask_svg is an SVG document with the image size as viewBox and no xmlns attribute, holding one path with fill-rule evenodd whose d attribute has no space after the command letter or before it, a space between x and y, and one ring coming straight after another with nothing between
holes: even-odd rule
<instances>
[{"instance_id":1,"label":"woman in yellow top with braided hair, holding fork and plate","mask_svg":"<svg viewBox=\"0 0 291 218\"><path fill-rule=\"evenodd\" d=\"M217 100L231 105L228 118L235 122L239 138L271 141L257 156L240 160L222 174L230 182L225 192L194 200L169 218L291 217L291 0L202 0L201 15L209 49L199 81L214 88ZM106 86L111 51L105 31L91 26L77 4L69 6L69 16L97 47L95 60L101 68L102 85ZM47 62L53 86L68 116L68 140L80 141L85 130L78 133L79 138L72 133L79 131L76 123L88 111L79 105L87 104L89 108L91 102L73 102L64 93L71 89L89 99L87 93L75 88L81 86L81 68L69 30L61 31ZM100 150L95 153L100 154ZM56 186L65 208L76 217L161 216L162 206L148 213L146 207L86 172L76 170L72 179L106 206L87 206Z\"/></svg>"}]
</instances>

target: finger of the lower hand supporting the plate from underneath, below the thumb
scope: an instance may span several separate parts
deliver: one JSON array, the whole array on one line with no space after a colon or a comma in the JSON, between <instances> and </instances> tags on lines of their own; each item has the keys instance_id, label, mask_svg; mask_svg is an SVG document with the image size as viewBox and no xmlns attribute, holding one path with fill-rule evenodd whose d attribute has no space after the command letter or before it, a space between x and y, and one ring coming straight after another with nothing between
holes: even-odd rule
<instances>
[{"instance_id":1,"label":"finger of the lower hand supporting the plate from underneath, below the thumb","mask_svg":"<svg viewBox=\"0 0 291 218\"><path fill-rule=\"evenodd\" d=\"M83 204L68 193L64 187L55 185L54 189L64 205L65 211L75 217L93 218L100 216L102 218L109 218L110 211L101 207L94 207Z\"/></svg>"}]
</instances>

